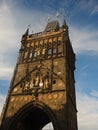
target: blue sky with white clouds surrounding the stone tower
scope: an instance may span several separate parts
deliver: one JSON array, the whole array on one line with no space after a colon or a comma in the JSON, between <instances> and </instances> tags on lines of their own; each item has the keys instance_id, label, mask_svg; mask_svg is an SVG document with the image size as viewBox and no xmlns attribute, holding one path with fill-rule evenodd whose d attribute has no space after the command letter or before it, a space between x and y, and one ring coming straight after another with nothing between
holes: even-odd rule
<instances>
[{"instance_id":1,"label":"blue sky with white clouds surrounding the stone tower","mask_svg":"<svg viewBox=\"0 0 98 130\"><path fill-rule=\"evenodd\" d=\"M98 0L0 0L0 113L16 64L21 36L43 31L48 16L63 16L76 54L79 130L98 129Z\"/></svg>"}]
</instances>

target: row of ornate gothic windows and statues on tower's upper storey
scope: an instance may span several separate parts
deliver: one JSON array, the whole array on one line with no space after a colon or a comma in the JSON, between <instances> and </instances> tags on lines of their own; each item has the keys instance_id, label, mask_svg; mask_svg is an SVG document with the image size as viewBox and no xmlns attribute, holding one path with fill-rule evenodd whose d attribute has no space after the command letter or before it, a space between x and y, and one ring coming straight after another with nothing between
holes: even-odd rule
<instances>
[{"instance_id":1,"label":"row of ornate gothic windows and statues on tower's upper storey","mask_svg":"<svg viewBox=\"0 0 98 130\"><path fill-rule=\"evenodd\" d=\"M21 47L23 48L23 47ZM46 39L25 44L25 49L20 56L20 63L36 61L39 59L49 59L63 56L60 38Z\"/></svg>"}]
</instances>

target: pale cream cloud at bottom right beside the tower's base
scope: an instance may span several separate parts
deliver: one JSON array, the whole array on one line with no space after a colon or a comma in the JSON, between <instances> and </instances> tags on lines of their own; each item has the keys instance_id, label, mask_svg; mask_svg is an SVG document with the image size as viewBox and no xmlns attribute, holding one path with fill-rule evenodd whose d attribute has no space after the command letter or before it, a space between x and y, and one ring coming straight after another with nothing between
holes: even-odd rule
<instances>
[{"instance_id":1,"label":"pale cream cloud at bottom right beside the tower's base","mask_svg":"<svg viewBox=\"0 0 98 130\"><path fill-rule=\"evenodd\" d=\"M98 100L77 92L79 130L98 129Z\"/></svg>"}]
</instances>

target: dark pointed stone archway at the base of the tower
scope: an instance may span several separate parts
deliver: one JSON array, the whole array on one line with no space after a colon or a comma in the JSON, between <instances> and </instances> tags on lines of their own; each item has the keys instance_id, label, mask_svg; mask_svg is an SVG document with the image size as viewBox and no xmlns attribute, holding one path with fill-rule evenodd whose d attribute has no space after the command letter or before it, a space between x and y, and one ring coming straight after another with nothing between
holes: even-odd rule
<instances>
[{"instance_id":1,"label":"dark pointed stone archway at the base of the tower","mask_svg":"<svg viewBox=\"0 0 98 130\"><path fill-rule=\"evenodd\" d=\"M52 110L41 102L31 102L16 113L9 130L42 130L50 122L58 130Z\"/></svg>"}]
</instances>

